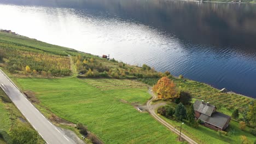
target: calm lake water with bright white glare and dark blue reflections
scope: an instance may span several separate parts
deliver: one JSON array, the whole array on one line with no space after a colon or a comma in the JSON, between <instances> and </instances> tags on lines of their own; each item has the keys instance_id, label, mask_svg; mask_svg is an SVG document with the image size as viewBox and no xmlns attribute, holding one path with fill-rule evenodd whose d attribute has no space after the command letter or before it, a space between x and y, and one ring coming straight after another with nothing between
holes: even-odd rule
<instances>
[{"instance_id":1,"label":"calm lake water with bright white glare and dark blue reflections","mask_svg":"<svg viewBox=\"0 0 256 144\"><path fill-rule=\"evenodd\" d=\"M256 98L256 5L0 0L0 28Z\"/></svg>"}]
</instances>

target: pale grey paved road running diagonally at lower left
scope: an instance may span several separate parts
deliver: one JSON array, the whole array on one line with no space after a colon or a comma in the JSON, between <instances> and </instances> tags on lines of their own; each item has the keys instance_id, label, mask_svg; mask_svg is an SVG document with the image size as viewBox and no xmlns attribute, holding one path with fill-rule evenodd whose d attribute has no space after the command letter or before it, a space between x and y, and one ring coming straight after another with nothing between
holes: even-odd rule
<instances>
[{"instance_id":1,"label":"pale grey paved road running diagonally at lower left","mask_svg":"<svg viewBox=\"0 0 256 144\"><path fill-rule=\"evenodd\" d=\"M2 70L0 70L0 86L46 143L75 143L72 139L69 139L61 129L55 127L55 125L48 121L48 119L27 100L25 95L19 91L19 88L11 82Z\"/></svg>"}]
</instances>

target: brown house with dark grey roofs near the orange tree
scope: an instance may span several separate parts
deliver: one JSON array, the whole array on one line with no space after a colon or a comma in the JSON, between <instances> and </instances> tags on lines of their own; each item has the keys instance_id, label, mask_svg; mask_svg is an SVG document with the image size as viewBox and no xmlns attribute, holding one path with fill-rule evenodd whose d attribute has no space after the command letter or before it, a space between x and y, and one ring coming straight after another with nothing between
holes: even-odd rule
<instances>
[{"instance_id":1,"label":"brown house with dark grey roofs near the orange tree","mask_svg":"<svg viewBox=\"0 0 256 144\"><path fill-rule=\"evenodd\" d=\"M195 117L201 119L203 125L214 130L225 130L231 117L216 111L216 106L208 102L196 100L194 103Z\"/></svg>"}]
</instances>

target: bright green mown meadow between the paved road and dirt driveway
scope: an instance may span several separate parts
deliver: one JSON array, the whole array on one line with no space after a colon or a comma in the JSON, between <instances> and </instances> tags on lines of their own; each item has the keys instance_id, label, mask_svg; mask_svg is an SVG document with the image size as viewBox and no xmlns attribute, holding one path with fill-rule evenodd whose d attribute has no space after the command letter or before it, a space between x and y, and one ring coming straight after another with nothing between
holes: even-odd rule
<instances>
[{"instance_id":1,"label":"bright green mown meadow between the paved road and dirt driveway","mask_svg":"<svg viewBox=\"0 0 256 144\"><path fill-rule=\"evenodd\" d=\"M104 143L178 143L177 135L131 105L150 98L142 83L75 77L16 81L23 90L35 92L41 105L63 119L87 125Z\"/></svg>"}]
</instances>

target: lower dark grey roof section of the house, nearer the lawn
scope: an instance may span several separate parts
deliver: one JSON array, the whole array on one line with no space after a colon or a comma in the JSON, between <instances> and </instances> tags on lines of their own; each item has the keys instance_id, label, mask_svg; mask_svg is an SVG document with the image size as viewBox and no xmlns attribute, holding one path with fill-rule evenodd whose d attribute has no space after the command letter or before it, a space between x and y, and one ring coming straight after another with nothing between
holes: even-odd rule
<instances>
[{"instance_id":1,"label":"lower dark grey roof section of the house, nearer the lawn","mask_svg":"<svg viewBox=\"0 0 256 144\"><path fill-rule=\"evenodd\" d=\"M201 114L199 119L223 129L226 122L229 121L230 116L224 113L214 112L211 117Z\"/></svg>"}]
</instances>

